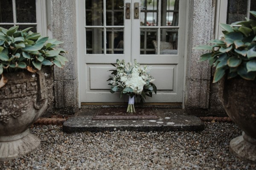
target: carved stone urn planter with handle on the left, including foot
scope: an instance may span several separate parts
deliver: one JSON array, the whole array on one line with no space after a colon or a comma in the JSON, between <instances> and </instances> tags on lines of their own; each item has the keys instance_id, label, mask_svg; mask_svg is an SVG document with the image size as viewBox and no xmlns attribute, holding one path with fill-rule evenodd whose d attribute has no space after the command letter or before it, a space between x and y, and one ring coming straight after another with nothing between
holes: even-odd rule
<instances>
[{"instance_id":1,"label":"carved stone urn planter with handle on the left, including foot","mask_svg":"<svg viewBox=\"0 0 256 170\"><path fill-rule=\"evenodd\" d=\"M49 73L50 71L50 73ZM35 150L40 139L29 133L47 108L51 69L5 74L8 82L0 88L0 161L13 159Z\"/></svg>"}]
</instances>

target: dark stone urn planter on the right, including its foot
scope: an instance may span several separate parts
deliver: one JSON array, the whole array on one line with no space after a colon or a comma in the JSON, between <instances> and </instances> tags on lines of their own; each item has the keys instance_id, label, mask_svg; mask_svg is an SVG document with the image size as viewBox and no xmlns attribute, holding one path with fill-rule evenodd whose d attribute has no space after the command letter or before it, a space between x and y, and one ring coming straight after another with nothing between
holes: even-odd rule
<instances>
[{"instance_id":1,"label":"dark stone urn planter on the right, including its foot","mask_svg":"<svg viewBox=\"0 0 256 170\"><path fill-rule=\"evenodd\" d=\"M243 130L242 136L230 141L230 153L256 162L256 82L223 77L218 86L218 95L225 111Z\"/></svg>"}]
</instances>

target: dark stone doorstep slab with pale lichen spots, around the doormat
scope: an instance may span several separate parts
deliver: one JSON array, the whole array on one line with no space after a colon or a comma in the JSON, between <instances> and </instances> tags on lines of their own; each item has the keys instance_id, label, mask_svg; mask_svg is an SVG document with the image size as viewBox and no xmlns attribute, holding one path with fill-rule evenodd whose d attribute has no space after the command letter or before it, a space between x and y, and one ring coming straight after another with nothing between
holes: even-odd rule
<instances>
[{"instance_id":1,"label":"dark stone doorstep slab with pale lichen spots, around the doormat","mask_svg":"<svg viewBox=\"0 0 256 170\"><path fill-rule=\"evenodd\" d=\"M204 122L196 116L187 115L182 109L154 109L159 119L142 120L92 120L97 109L87 109L64 122L66 133L103 131L200 131Z\"/></svg>"}]
</instances>

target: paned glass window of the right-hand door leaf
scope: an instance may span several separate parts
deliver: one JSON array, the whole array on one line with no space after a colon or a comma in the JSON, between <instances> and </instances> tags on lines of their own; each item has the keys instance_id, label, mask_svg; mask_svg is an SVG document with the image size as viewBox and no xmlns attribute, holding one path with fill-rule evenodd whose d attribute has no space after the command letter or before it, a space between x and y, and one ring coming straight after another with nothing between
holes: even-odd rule
<instances>
[{"instance_id":1,"label":"paned glass window of the right-hand door leaf","mask_svg":"<svg viewBox=\"0 0 256 170\"><path fill-rule=\"evenodd\" d=\"M140 10L140 54L177 54L179 0L140 0L140 6L146 7Z\"/></svg>"}]
</instances>

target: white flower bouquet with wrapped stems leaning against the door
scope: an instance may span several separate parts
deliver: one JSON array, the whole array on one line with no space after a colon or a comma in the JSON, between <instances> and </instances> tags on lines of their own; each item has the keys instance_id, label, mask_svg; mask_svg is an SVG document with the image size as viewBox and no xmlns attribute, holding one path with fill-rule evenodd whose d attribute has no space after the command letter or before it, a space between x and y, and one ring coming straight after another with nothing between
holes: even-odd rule
<instances>
[{"instance_id":1,"label":"white flower bouquet with wrapped stems leaning against the door","mask_svg":"<svg viewBox=\"0 0 256 170\"><path fill-rule=\"evenodd\" d=\"M108 85L111 85L111 93L120 91L120 98L123 94L129 96L127 112L134 113L134 97L140 96L140 102L145 102L146 96L152 97L152 92L157 94L157 87L154 85L154 78L149 74L149 68L145 65L140 67L134 59L134 66L130 62L125 63L125 60L119 61L116 59L116 64L111 64L116 67L113 71L112 78Z\"/></svg>"}]
</instances>

